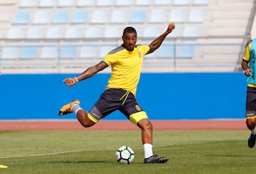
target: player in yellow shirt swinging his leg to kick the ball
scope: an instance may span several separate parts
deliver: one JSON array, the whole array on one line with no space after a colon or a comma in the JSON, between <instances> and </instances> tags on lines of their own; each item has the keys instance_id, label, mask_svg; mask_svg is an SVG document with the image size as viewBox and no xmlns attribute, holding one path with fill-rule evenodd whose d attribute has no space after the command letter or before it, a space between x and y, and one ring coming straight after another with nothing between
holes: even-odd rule
<instances>
[{"instance_id":1,"label":"player in yellow shirt swinging his leg to kick the ball","mask_svg":"<svg viewBox=\"0 0 256 174\"><path fill-rule=\"evenodd\" d=\"M73 78L65 78L68 87L92 77L97 72L111 66L111 77L100 99L89 112L80 107L80 101L75 99L69 104L65 104L59 111L59 115L75 112L78 121L84 127L90 127L100 121L108 114L119 110L132 123L142 130L142 143L144 146L144 163L166 163L169 158L154 155L152 152L153 126L149 121L146 112L139 106L135 97L139 77L142 69L144 55L153 53L163 43L166 36L175 28L174 23L170 23L164 33L153 40L149 45L136 45L137 31L132 27L124 28L123 44L107 53L105 58L88 67L80 75Z\"/></svg>"}]
</instances>

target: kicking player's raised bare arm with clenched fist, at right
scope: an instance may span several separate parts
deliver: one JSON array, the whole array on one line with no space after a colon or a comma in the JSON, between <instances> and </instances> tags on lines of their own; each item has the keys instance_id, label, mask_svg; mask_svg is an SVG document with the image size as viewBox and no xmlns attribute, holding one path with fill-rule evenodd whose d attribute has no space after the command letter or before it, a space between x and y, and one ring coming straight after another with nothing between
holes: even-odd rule
<instances>
[{"instance_id":1,"label":"kicking player's raised bare arm with clenched fist, at right","mask_svg":"<svg viewBox=\"0 0 256 174\"><path fill-rule=\"evenodd\" d=\"M158 49L160 47L161 43L163 43L166 36L168 36L169 33L171 33L171 31L174 30L174 28L175 28L175 23L170 23L168 28L166 29L166 31L164 33L162 33L161 36L159 36L158 38L156 38L149 44L149 47L150 47L149 53L153 53L156 49ZM149 54L149 53L147 53L147 54Z\"/></svg>"}]
</instances>

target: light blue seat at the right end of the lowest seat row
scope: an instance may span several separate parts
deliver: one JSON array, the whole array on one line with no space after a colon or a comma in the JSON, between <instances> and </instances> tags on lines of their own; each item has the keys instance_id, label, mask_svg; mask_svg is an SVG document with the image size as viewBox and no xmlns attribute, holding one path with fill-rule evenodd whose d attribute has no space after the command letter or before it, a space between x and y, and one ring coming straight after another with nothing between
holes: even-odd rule
<instances>
[{"instance_id":1,"label":"light blue seat at the right end of the lowest seat row","mask_svg":"<svg viewBox=\"0 0 256 174\"><path fill-rule=\"evenodd\" d=\"M195 56L195 45L178 45L177 58L193 58Z\"/></svg>"}]
</instances>

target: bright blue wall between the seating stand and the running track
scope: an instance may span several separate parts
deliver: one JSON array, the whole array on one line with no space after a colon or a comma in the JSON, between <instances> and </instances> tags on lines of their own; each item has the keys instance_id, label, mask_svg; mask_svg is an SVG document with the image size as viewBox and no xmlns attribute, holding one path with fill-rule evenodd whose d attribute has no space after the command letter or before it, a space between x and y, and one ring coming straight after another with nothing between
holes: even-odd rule
<instances>
[{"instance_id":1,"label":"bright blue wall between the seating stand and the running track","mask_svg":"<svg viewBox=\"0 0 256 174\"><path fill-rule=\"evenodd\" d=\"M75 119L58 116L63 104L80 99L89 110L105 89L109 74L97 74L67 87L73 74L1 75L0 119ZM246 77L236 73L142 74L137 101L150 119L244 119ZM126 119L114 112L106 119Z\"/></svg>"}]
</instances>

